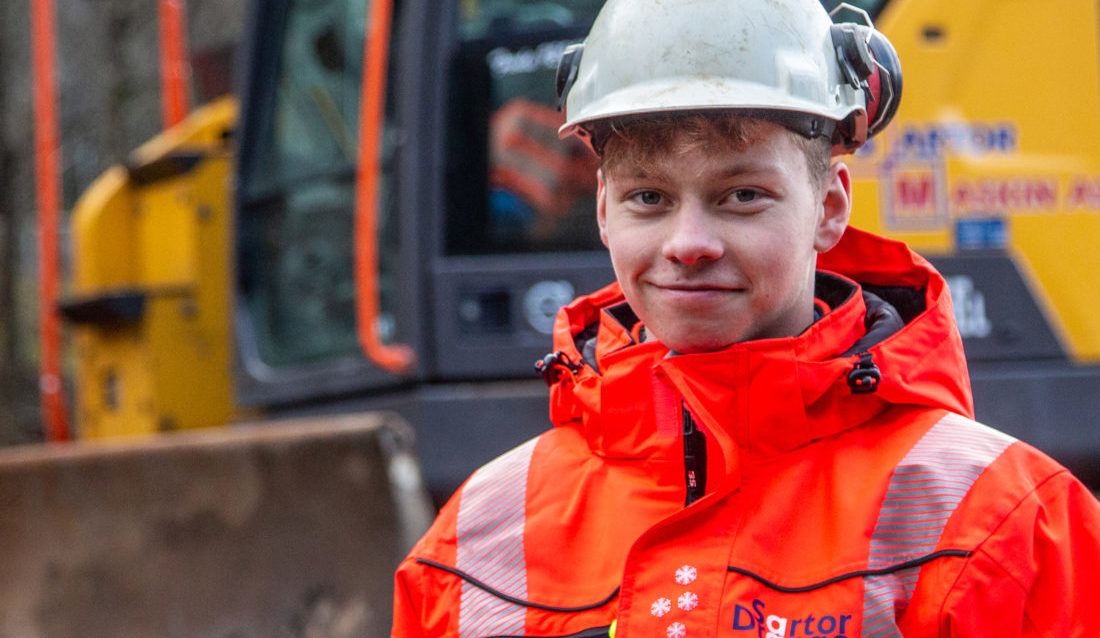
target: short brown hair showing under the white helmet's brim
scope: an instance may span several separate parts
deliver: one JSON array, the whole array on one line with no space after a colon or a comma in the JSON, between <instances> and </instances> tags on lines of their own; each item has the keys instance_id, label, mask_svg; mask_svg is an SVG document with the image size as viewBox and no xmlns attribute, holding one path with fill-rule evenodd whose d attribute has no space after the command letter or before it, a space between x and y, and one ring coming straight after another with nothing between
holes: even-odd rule
<instances>
[{"instance_id":1,"label":"short brown hair showing under the white helmet's brim","mask_svg":"<svg viewBox=\"0 0 1100 638\"><path fill-rule=\"evenodd\" d=\"M625 162L649 168L656 153L676 140L716 153L741 151L752 141L763 120L738 116L733 111L714 113L657 113L612 121L603 131L600 166L613 170ZM811 185L821 188L832 161L827 138L805 138L785 130L806 158Z\"/></svg>"}]
</instances>

